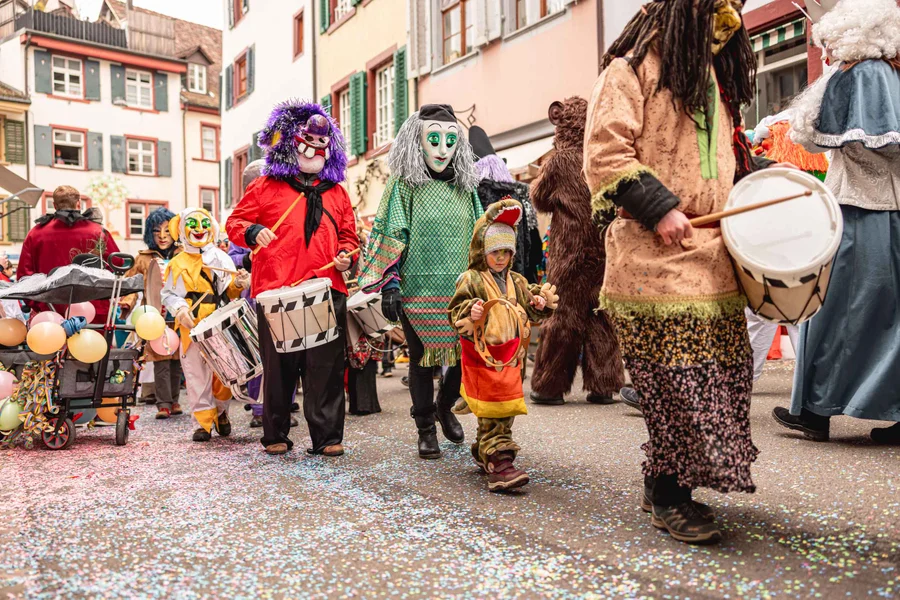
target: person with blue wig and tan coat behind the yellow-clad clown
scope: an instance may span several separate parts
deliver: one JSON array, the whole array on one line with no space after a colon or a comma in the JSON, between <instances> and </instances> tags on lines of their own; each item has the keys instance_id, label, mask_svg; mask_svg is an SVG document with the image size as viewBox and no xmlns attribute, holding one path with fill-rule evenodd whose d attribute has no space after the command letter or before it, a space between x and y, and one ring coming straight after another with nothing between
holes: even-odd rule
<instances>
[{"instance_id":1,"label":"person with blue wig and tan coat behind the yellow-clad clown","mask_svg":"<svg viewBox=\"0 0 900 600\"><path fill-rule=\"evenodd\" d=\"M144 243L147 244L147 249L138 252L134 266L125 274L126 277L138 274L144 276L144 304L159 310L166 317L166 323L173 329L175 317L167 313L162 305L162 273L169 261L181 251L169 232L169 221L174 218L175 213L167 208L157 208L147 216L144 223ZM137 294L122 299L120 306L124 318L134 310L137 301ZM144 347L144 359L153 369L152 386L153 396L156 399L156 418L168 419L171 415L182 414L181 405L178 403L178 396L181 394L181 362L178 360L178 353L163 356L147 344Z\"/></svg>"}]
</instances>

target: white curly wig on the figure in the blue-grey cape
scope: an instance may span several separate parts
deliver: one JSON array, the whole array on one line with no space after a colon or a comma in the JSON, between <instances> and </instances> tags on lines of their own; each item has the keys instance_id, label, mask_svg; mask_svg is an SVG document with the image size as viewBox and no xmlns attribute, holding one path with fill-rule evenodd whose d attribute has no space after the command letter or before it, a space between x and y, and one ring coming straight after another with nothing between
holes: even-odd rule
<instances>
[{"instance_id":1,"label":"white curly wig on the figure in the blue-grey cape","mask_svg":"<svg viewBox=\"0 0 900 600\"><path fill-rule=\"evenodd\" d=\"M813 25L813 40L842 62L900 55L896 0L841 0Z\"/></svg>"}]
</instances>

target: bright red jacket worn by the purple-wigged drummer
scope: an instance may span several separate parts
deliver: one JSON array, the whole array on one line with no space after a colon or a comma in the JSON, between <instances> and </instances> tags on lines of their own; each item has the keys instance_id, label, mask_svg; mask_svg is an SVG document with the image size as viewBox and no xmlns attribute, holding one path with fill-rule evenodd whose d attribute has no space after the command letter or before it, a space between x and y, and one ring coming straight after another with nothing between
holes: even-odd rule
<instances>
[{"instance_id":1,"label":"bright red jacket worn by the purple-wigged drummer","mask_svg":"<svg viewBox=\"0 0 900 600\"><path fill-rule=\"evenodd\" d=\"M228 239L244 248L247 228L254 224L268 229L290 208L297 199L297 192L290 185L272 177L260 177L247 187L244 197L235 207L225 229ZM350 205L350 196L340 185L322 194L322 204L334 217L337 229L328 215L322 214L319 228L309 247L303 236L306 219L306 203L301 200L275 231L278 239L260 250L253 258L251 294L257 297L263 292L305 281L314 277L331 279L332 289L347 293L347 285L341 273L334 267L319 271L334 260L341 250L350 252L359 247L356 236L356 218Z\"/></svg>"}]
</instances>

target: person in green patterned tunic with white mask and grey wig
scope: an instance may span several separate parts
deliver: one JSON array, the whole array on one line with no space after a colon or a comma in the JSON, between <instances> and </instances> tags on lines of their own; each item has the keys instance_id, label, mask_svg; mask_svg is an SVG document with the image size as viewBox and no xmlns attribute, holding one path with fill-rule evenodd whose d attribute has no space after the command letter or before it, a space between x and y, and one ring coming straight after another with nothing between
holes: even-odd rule
<instances>
[{"instance_id":1,"label":"person in green patterned tunic with white mask and grey wig","mask_svg":"<svg viewBox=\"0 0 900 600\"><path fill-rule=\"evenodd\" d=\"M446 309L469 267L475 221L484 212L472 146L453 109L427 104L400 128L388 155L391 178L375 215L359 284L382 293L382 310L400 321L409 346L409 394L421 458L440 458L444 437L465 432L451 412L462 372L456 329ZM449 366L434 398L434 367Z\"/></svg>"}]
</instances>

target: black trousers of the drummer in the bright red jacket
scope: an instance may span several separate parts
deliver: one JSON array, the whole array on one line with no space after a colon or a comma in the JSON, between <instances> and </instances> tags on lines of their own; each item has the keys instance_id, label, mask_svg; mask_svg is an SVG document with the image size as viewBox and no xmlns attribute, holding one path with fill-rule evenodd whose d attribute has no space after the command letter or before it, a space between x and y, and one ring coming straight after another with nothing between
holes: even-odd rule
<instances>
[{"instance_id":1,"label":"black trousers of the drummer in the bright red jacket","mask_svg":"<svg viewBox=\"0 0 900 600\"><path fill-rule=\"evenodd\" d=\"M344 368L346 367L347 296L331 290L338 338L309 350L280 354L262 306L257 305L259 348L262 354L263 446L284 443L293 447L291 403L297 379L303 381L303 416L309 426L313 454L344 440Z\"/></svg>"}]
</instances>

